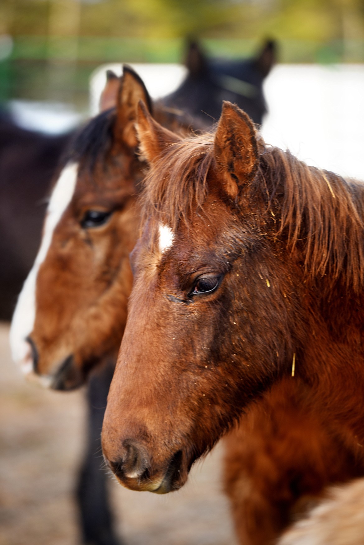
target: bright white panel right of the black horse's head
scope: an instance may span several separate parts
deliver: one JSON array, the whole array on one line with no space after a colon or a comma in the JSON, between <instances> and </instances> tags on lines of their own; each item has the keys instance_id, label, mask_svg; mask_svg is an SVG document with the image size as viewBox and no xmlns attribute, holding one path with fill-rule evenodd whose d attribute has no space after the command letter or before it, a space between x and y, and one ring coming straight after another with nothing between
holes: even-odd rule
<instances>
[{"instance_id":1,"label":"bright white panel right of the black horse's head","mask_svg":"<svg viewBox=\"0 0 364 545\"><path fill-rule=\"evenodd\" d=\"M266 142L364 180L364 65L278 65L264 87Z\"/></svg>"}]
</instances>

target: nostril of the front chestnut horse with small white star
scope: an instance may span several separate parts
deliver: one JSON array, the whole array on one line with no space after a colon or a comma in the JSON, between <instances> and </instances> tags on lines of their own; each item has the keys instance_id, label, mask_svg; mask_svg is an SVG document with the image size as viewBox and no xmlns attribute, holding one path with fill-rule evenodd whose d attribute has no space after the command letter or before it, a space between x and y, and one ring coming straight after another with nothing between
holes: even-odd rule
<instances>
[{"instance_id":1,"label":"nostril of the front chestnut horse with small white star","mask_svg":"<svg viewBox=\"0 0 364 545\"><path fill-rule=\"evenodd\" d=\"M109 462L113 473L116 476L125 476L129 479L141 477L150 465L144 447L132 439L125 439L123 447L123 458L116 462Z\"/></svg>"}]
</instances>

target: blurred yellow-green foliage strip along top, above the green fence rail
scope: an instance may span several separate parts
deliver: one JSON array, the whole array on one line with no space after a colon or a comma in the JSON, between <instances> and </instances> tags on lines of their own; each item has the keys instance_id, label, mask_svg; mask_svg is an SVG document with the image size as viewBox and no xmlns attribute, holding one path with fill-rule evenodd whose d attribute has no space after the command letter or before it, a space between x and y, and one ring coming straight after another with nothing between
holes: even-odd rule
<instances>
[{"instance_id":1,"label":"blurred yellow-green foliage strip along top, above the green fence rail","mask_svg":"<svg viewBox=\"0 0 364 545\"><path fill-rule=\"evenodd\" d=\"M72 5L78 4L79 10ZM118 38L363 39L363 0L2 0L0 31L47 35L56 11L68 13L56 33Z\"/></svg>"}]
</instances>

